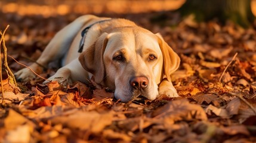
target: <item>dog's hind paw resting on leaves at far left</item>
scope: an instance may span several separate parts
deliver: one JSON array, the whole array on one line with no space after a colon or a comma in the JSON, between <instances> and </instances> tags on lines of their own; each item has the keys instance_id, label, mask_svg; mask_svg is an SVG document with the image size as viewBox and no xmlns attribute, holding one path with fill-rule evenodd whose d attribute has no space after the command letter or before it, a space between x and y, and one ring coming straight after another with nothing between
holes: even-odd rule
<instances>
[{"instance_id":1,"label":"dog's hind paw resting on leaves at far left","mask_svg":"<svg viewBox=\"0 0 256 143\"><path fill-rule=\"evenodd\" d=\"M31 70L35 73L41 73L42 68L39 67L37 64L32 64L29 66ZM36 75L28 68L21 69L14 73L14 76L19 82L29 82L30 80L35 79Z\"/></svg>"}]
</instances>

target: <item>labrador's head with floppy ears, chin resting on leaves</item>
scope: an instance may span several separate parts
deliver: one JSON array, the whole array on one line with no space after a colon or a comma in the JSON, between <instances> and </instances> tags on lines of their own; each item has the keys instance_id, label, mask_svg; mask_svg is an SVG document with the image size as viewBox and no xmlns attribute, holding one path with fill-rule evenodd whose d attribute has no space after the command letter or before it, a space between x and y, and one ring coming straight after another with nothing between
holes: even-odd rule
<instances>
[{"instance_id":1,"label":"labrador's head with floppy ears, chin resting on leaves","mask_svg":"<svg viewBox=\"0 0 256 143\"><path fill-rule=\"evenodd\" d=\"M115 98L128 102L143 95L155 100L158 85L180 64L178 55L162 39L141 27L103 33L79 57L95 82L115 89Z\"/></svg>"}]
</instances>

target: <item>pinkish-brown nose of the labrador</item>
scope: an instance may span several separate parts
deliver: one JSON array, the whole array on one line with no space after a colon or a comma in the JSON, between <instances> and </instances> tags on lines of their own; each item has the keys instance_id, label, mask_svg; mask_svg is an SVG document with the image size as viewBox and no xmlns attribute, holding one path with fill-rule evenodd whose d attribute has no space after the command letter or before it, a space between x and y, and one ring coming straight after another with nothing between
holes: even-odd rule
<instances>
[{"instance_id":1,"label":"pinkish-brown nose of the labrador","mask_svg":"<svg viewBox=\"0 0 256 143\"><path fill-rule=\"evenodd\" d=\"M145 89L149 85L149 80L144 76L132 77L130 84L134 89Z\"/></svg>"}]
</instances>

